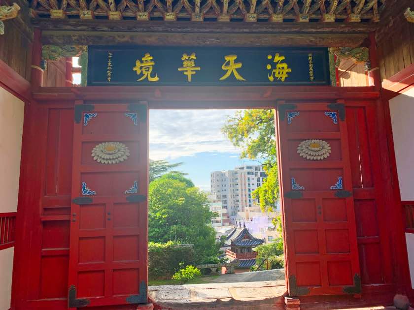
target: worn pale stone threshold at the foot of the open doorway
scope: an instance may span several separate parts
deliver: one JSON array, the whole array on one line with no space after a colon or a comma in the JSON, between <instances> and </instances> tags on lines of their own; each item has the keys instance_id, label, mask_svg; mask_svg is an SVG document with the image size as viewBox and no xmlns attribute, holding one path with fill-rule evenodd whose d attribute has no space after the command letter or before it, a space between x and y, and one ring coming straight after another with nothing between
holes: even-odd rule
<instances>
[{"instance_id":1,"label":"worn pale stone threshold at the foot of the open doorway","mask_svg":"<svg viewBox=\"0 0 414 310\"><path fill-rule=\"evenodd\" d=\"M284 280L149 286L158 309L284 309Z\"/></svg>"}]
</instances>

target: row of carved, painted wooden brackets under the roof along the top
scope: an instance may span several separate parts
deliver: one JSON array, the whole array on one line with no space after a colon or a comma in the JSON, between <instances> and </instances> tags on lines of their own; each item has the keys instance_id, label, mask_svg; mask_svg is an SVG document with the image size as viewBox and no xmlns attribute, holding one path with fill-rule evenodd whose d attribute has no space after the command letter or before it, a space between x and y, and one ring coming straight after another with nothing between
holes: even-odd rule
<instances>
[{"instance_id":1,"label":"row of carved, painted wooden brackets under the roof along the top","mask_svg":"<svg viewBox=\"0 0 414 310\"><path fill-rule=\"evenodd\" d=\"M377 23L387 0L30 0L32 17L138 21Z\"/></svg>"}]
</instances>

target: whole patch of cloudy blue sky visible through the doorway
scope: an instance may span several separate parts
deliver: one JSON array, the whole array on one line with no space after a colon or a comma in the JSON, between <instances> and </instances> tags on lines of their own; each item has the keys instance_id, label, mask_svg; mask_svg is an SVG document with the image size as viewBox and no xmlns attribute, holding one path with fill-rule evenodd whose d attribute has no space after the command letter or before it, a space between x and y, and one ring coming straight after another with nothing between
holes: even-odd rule
<instances>
[{"instance_id":1,"label":"whole patch of cloudy blue sky visible through the doorway","mask_svg":"<svg viewBox=\"0 0 414 310\"><path fill-rule=\"evenodd\" d=\"M233 169L256 161L240 159L235 148L221 133L226 115L236 110L150 110L149 158L184 162L179 169L194 184L209 190L210 172Z\"/></svg>"}]
</instances>

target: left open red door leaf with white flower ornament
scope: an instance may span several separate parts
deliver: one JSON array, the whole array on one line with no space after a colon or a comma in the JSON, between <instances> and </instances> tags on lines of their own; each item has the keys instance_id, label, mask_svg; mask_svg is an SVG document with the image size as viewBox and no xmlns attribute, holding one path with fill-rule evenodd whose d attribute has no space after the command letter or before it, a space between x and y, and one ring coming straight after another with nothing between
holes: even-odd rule
<instances>
[{"instance_id":1,"label":"left open red door leaf with white flower ornament","mask_svg":"<svg viewBox=\"0 0 414 310\"><path fill-rule=\"evenodd\" d=\"M75 105L68 308L147 302L147 105Z\"/></svg>"}]
</instances>

